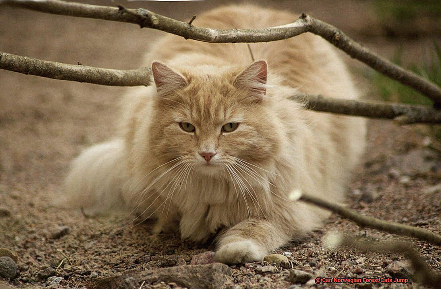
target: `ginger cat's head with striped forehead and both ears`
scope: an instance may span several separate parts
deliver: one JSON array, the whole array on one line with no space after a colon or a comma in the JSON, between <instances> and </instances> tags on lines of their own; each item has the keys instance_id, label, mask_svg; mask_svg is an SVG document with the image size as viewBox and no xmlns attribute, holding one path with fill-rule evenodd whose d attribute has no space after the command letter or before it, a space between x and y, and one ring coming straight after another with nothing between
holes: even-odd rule
<instances>
[{"instance_id":1,"label":"ginger cat's head with striped forehead and both ears","mask_svg":"<svg viewBox=\"0 0 441 289\"><path fill-rule=\"evenodd\" d=\"M272 163L279 127L267 95L268 66L173 69L152 64L157 95L149 148L164 162L180 158L194 170L217 175L234 166L244 176Z\"/></svg>"}]
</instances>

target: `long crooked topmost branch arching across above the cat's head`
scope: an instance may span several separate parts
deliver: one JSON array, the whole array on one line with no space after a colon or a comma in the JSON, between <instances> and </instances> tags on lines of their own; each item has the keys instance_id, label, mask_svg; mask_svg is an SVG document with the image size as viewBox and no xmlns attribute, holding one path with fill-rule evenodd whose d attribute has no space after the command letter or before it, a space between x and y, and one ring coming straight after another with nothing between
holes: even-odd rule
<instances>
[{"instance_id":1,"label":"long crooked topmost branch arching across above the cat's head","mask_svg":"<svg viewBox=\"0 0 441 289\"><path fill-rule=\"evenodd\" d=\"M60 0L0 0L0 3L58 15L133 23L141 28L149 27L176 34L186 39L204 42L269 42L311 32L325 38L352 58L358 59L378 72L421 92L434 101L436 108L441 108L440 87L371 52L336 27L305 14L302 14L293 23L277 27L230 30L195 27L189 23L171 19L143 8L127 9L122 6L114 8Z\"/></svg>"}]
</instances>

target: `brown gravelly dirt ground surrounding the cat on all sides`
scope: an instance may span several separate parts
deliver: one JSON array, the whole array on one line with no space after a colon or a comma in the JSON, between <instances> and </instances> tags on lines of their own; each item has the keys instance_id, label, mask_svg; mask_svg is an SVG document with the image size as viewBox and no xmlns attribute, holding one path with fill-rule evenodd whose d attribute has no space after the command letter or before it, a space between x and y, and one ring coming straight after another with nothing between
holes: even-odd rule
<instances>
[{"instance_id":1,"label":"brown gravelly dirt ground surrounding the cat on all sides","mask_svg":"<svg viewBox=\"0 0 441 289\"><path fill-rule=\"evenodd\" d=\"M257 2L308 12L340 27L385 57L390 57L398 46L405 44L407 59L419 59L421 47L433 40L439 41L439 35L430 33L420 38L386 38L377 30L378 23L369 1ZM144 7L189 20L192 15L223 2L88 3ZM40 59L72 64L79 61L83 65L105 68L137 68L142 54L161 34L131 24L0 7L0 49ZM348 59L348 63L357 73L368 71L356 61ZM357 80L366 91L366 97L374 98L369 83L362 77ZM94 283L95 280L120 275L126 270L185 265L194 255L213 251L209 244L183 242L171 235L152 236L149 223L113 234L115 229L132 220L132 216L123 213L88 218L81 212L50 205L54 196L62 193L60 185L69 161L83 148L112 136L120 95L126 88L49 80L3 70L0 71L0 87L0 209L10 213L0 216L0 247L18 254L17 277L14 280L0 278L0 288L2 285L99 287L100 283ZM398 127L389 121L372 120L368 144L348 189L349 206L366 215L441 233L441 189L435 187L441 180L441 161L439 155L426 147L427 139L415 127ZM68 232L54 239L52 234L59 226L67 226ZM334 231L354 236L365 234L379 242L398 239L383 232L360 229L333 215L324 228L314 231L310 237L274 252L286 255L294 269L321 277L391 277L388 265L405 259L394 253L363 253L347 247L329 249L322 238ZM440 248L406 240L415 245L432 269L441 270ZM265 265L270 264L230 266L232 273L222 277L224 288L298 286L291 284L289 270L281 266L276 266L275 273L258 273L262 271L260 266ZM57 280L56 277L61 278ZM138 288L176 288L176 284L166 283L136 285ZM120 288L135 288L132 285ZM102 288L106 286L101 285ZM418 287L411 282L374 285L314 285L308 282L303 286Z\"/></svg>"}]
</instances>

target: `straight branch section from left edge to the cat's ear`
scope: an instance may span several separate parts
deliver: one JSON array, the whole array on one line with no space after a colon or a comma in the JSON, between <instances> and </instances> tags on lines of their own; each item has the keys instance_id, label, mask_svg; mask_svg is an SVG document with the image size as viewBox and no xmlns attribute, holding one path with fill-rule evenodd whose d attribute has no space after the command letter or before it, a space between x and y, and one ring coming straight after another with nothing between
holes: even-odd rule
<instances>
[{"instance_id":1,"label":"straight branch section from left edge to the cat's ear","mask_svg":"<svg viewBox=\"0 0 441 289\"><path fill-rule=\"evenodd\" d=\"M52 79L102 85L135 86L150 84L150 68L147 67L133 70L96 68L0 52L0 68Z\"/></svg>"}]
</instances>

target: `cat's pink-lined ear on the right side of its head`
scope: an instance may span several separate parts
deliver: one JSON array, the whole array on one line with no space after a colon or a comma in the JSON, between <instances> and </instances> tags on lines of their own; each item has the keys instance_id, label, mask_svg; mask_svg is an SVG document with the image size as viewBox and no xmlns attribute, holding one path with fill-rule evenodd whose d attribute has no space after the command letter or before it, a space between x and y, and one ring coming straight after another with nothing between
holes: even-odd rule
<instances>
[{"instance_id":1,"label":"cat's pink-lined ear on the right side of its head","mask_svg":"<svg viewBox=\"0 0 441 289\"><path fill-rule=\"evenodd\" d=\"M268 76L268 65L265 60L254 61L250 66L240 72L236 77L236 87L248 88L259 95L266 94L266 78Z\"/></svg>"}]
</instances>

